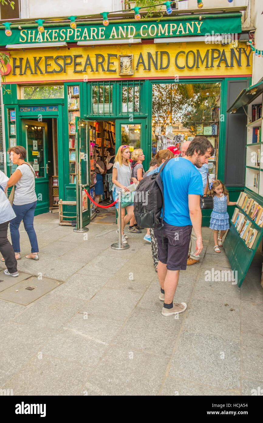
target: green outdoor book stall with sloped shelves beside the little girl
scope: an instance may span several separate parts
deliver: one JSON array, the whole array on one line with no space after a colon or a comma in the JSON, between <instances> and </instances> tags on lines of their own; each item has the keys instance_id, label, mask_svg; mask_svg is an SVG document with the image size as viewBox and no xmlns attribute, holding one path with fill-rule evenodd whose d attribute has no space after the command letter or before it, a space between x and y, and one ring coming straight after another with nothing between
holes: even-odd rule
<instances>
[{"instance_id":1,"label":"green outdoor book stall with sloped shelves beside the little girl","mask_svg":"<svg viewBox=\"0 0 263 423\"><path fill-rule=\"evenodd\" d=\"M224 241L232 270L241 286L263 236L263 82L241 91L228 112L247 113L247 155L241 192Z\"/></svg>"}]
</instances>

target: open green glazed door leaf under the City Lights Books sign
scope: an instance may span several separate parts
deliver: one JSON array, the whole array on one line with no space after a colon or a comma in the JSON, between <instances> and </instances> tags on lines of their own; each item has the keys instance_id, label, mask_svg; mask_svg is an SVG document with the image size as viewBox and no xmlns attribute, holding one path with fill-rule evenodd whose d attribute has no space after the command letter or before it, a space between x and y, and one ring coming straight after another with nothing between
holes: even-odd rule
<instances>
[{"instance_id":1,"label":"open green glazed door leaf under the City Lights Books sign","mask_svg":"<svg viewBox=\"0 0 263 423\"><path fill-rule=\"evenodd\" d=\"M21 120L22 145L27 150L27 163L35 170L35 192L38 198L35 215L49 211L49 164L47 124Z\"/></svg>"}]
</instances>

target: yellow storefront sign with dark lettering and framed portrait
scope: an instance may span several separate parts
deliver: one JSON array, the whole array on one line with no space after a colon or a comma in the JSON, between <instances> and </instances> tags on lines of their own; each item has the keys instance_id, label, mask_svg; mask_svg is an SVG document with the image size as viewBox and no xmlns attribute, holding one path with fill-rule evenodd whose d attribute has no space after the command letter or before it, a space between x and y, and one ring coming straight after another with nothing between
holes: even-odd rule
<instances>
[{"instance_id":1,"label":"yellow storefront sign with dark lettering and framed portrait","mask_svg":"<svg viewBox=\"0 0 263 423\"><path fill-rule=\"evenodd\" d=\"M182 42L15 50L10 52L6 82L247 77L252 74L252 54L245 43L242 45ZM125 74L123 63L128 63L129 74Z\"/></svg>"}]
</instances>

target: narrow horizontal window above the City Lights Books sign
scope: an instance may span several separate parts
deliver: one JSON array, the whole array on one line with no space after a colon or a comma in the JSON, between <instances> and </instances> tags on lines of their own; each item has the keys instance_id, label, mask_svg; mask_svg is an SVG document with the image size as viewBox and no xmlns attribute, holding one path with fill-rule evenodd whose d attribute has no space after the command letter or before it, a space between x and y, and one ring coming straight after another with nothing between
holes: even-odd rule
<instances>
[{"instance_id":1,"label":"narrow horizontal window above the City Lights Books sign","mask_svg":"<svg viewBox=\"0 0 263 423\"><path fill-rule=\"evenodd\" d=\"M64 87L63 85L24 86L21 87L20 95L24 100L63 99Z\"/></svg>"}]
</instances>

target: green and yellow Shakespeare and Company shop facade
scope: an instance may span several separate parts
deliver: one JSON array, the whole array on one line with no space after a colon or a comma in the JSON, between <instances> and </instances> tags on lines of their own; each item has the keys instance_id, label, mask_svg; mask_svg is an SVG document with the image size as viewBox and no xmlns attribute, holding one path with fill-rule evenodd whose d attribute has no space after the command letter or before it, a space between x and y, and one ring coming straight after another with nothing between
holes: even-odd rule
<instances>
[{"instance_id":1,"label":"green and yellow Shakespeare and Company shop facade","mask_svg":"<svg viewBox=\"0 0 263 423\"><path fill-rule=\"evenodd\" d=\"M10 65L5 75L9 91L3 92L4 150L14 145L27 149L27 160L37 176L36 214L56 206L58 198L76 200L78 162L81 183L93 196L94 144L102 160L108 147L117 150L128 144L131 151L140 147L147 170L158 149L169 143L180 148L195 135L209 137L215 147L215 155L209 159L210 180L221 179L233 191L231 198L238 198L244 188L245 157L240 145L246 143L246 122L244 116L237 121L226 110L250 85L252 55L246 42L217 43L214 38L205 39L204 32L210 27L218 33L229 32L229 28L240 33L240 14L227 15L207 17L203 32L199 15L191 22L189 17L181 18L182 22L177 17L168 23L140 23L139 28L137 23L122 22L115 30L107 27L107 45L96 44L105 27L95 24L93 32L90 25L83 25L73 34L76 39L70 33L69 39L65 38L67 46L56 47L52 43L66 32L55 23L49 28L54 38L50 38L50 47L41 48L41 43L49 43L51 35L40 40L33 29L17 29L17 38L14 30L14 40L8 40L14 49L12 44L6 47ZM181 31L174 34L174 28L180 26ZM134 34L131 27L136 28ZM88 38L97 34L97 39L90 41L94 42L91 45L77 45L85 28ZM177 39L171 41L172 35ZM184 35L182 41L178 39ZM6 38L11 37L5 36L5 42L2 39L3 46ZM8 157L5 160L10 175L14 166ZM87 222L93 211L88 206ZM208 223L206 212L203 225Z\"/></svg>"}]
</instances>

